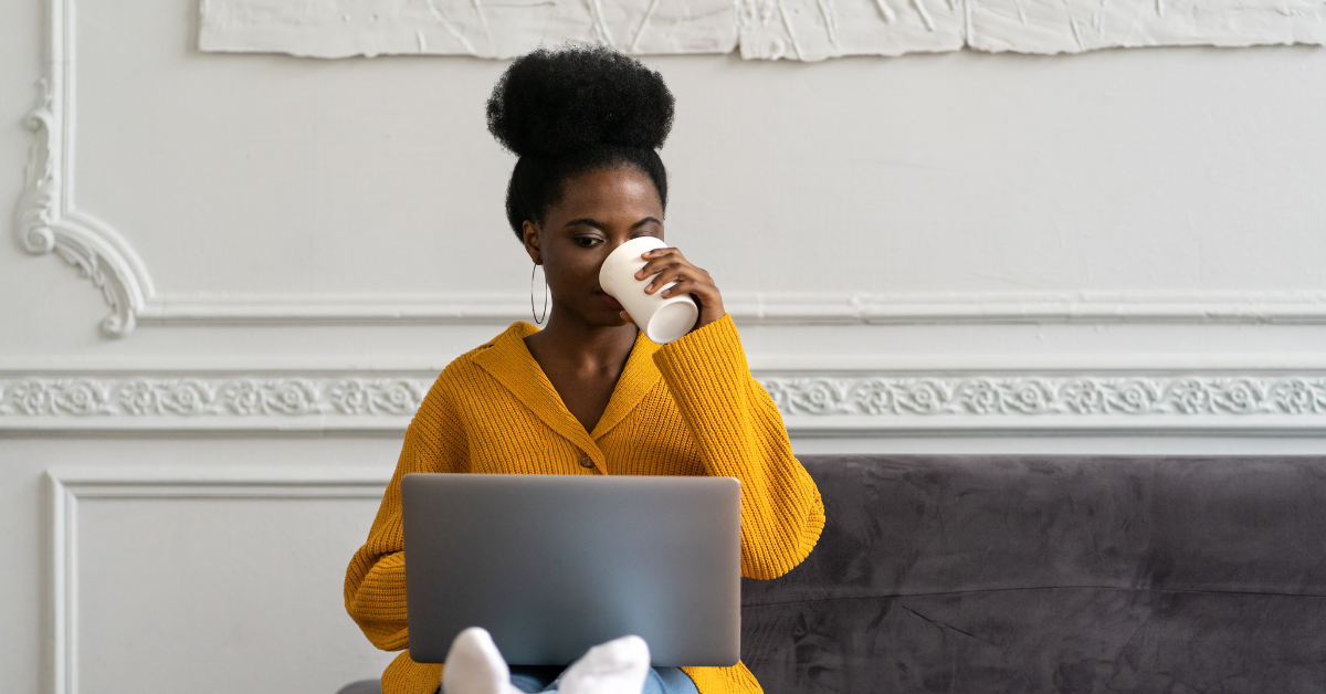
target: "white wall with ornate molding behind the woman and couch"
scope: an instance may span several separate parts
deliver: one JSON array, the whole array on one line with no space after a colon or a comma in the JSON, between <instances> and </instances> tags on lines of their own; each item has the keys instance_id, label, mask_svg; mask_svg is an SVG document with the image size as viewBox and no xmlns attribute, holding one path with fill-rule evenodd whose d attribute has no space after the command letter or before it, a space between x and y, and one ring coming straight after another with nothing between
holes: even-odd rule
<instances>
[{"instance_id":1,"label":"white wall with ornate molding behind the woman and couch","mask_svg":"<svg viewBox=\"0 0 1326 694\"><path fill-rule=\"evenodd\" d=\"M68 17L46 3L0 0L0 200L37 142L42 13ZM363 490L418 389L524 316L481 117L504 64L200 54L196 23L81 3L60 52L50 222L123 242L101 269L137 328L105 336L93 281L0 244L0 691L375 674L338 594ZM798 451L1326 452L1322 49L648 62L678 96L668 239L719 280ZM361 482L244 491L271 475ZM290 597L282 549L317 597Z\"/></svg>"}]
</instances>

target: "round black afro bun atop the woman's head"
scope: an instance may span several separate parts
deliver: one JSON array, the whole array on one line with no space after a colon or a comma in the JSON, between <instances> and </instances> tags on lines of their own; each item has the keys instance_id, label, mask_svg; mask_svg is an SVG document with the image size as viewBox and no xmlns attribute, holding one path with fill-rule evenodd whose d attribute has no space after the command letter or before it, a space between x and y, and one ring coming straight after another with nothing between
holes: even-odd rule
<instances>
[{"instance_id":1,"label":"round black afro bun atop the woman's head","mask_svg":"<svg viewBox=\"0 0 1326 694\"><path fill-rule=\"evenodd\" d=\"M599 146L656 150L672 129L663 76L607 48L526 53L488 100L488 131L518 157Z\"/></svg>"}]
</instances>

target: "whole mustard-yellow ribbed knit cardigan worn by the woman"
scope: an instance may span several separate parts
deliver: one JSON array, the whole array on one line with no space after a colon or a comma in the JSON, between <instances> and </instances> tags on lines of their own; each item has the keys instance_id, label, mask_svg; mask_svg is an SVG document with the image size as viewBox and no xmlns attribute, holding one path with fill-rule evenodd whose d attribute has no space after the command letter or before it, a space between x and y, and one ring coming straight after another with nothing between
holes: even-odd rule
<instances>
[{"instance_id":1,"label":"whole mustard-yellow ribbed knit cardigan worn by the woman","mask_svg":"<svg viewBox=\"0 0 1326 694\"><path fill-rule=\"evenodd\" d=\"M410 645L400 531L407 472L719 475L741 480L741 575L774 579L819 539L819 491L769 394L751 377L731 317L666 346L639 336L594 431L562 403L516 322L438 377L406 431L369 540L345 576L345 606L383 650ZM589 467L586 467L589 466ZM684 667L700 694L761 691L745 665ZM440 665L402 653L383 694L432 694Z\"/></svg>"}]
</instances>

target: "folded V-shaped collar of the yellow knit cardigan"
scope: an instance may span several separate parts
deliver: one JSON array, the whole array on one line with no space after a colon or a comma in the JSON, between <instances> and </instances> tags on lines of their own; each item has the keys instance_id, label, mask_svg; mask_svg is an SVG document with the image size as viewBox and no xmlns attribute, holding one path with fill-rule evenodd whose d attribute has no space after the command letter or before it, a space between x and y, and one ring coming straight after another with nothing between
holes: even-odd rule
<instances>
[{"instance_id":1,"label":"folded V-shaped collar of the yellow knit cardigan","mask_svg":"<svg viewBox=\"0 0 1326 694\"><path fill-rule=\"evenodd\" d=\"M516 321L485 345L488 349L475 354L475 362L492 374L553 431L579 446L594 458L595 463L602 466L605 462L595 443L597 439L621 423L644 399L650 389L663 378L652 358L659 345L644 337L643 332L635 336L631 356L627 357L626 366L622 368L622 376L617 380L607 407L594 426L594 431L590 433L585 431L575 415L566 409L557 389L553 387L544 369L538 366L534 356L525 346L525 338L537 332L538 328L525 321Z\"/></svg>"}]
</instances>

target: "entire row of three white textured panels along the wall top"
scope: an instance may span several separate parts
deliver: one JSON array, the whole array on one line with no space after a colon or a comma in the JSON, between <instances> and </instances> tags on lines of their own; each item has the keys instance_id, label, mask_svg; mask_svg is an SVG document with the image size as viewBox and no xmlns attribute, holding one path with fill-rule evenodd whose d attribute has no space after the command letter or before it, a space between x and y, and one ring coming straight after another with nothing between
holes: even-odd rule
<instances>
[{"instance_id":1,"label":"entire row of three white textured panels along the wall top","mask_svg":"<svg viewBox=\"0 0 1326 694\"><path fill-rule=\"evenodd\" d=\"M733 7L735 5L735 7ZM823 60L910 52L1077 53L1321 44L1319 0L203 0L203 50L511 57L581 41L633 53Z\"/></svg>"}]
</instances>

